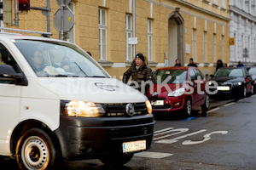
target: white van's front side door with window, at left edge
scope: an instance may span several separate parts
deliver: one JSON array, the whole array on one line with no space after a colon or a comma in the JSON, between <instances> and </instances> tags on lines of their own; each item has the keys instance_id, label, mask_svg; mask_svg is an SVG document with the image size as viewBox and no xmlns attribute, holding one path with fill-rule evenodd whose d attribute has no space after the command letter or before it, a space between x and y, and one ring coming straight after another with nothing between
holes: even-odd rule
<instances>
[{"instance_id":1,"label":"white van's front side door with window, at left edge","mask_svg":"<svg viewBox=\"0 0 256 170\"><path fill-rule=\"evenodd\" d=\"M20 66L0 42L0 65L11 65L20 72ZM2 67L3 71L3 67ZM8 72L6 73L8 75ZM0 75L0 153L9 154L9 139L13 127L19 122L21 85Z\"/></svg>"}]
</instances>

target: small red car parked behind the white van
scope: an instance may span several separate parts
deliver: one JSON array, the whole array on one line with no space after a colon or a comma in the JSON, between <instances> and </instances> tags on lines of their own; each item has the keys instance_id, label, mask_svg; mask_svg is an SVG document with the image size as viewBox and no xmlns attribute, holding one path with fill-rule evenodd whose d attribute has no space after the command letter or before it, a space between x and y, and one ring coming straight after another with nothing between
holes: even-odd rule
<instances>
[{"instance_id":1,"label":"small red car parked behind the white van","mask_svg":"<svg viewBox=\"0 0 256 170\"><path fill-rule=\"evenodd\" d=\"M190 116L192 109L201 106L207 113L209 97L207 80L196 67L165 67L153 72L154 86L148 89L153 113L181 111Z\"/></svg>"}]
</instances>

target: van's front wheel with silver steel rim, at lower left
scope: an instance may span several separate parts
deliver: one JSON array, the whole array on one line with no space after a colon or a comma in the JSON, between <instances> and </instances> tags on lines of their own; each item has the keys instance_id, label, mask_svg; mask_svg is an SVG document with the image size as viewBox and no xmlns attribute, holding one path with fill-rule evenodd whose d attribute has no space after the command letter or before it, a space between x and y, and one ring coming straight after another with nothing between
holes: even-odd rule
<instances>
[{"instance_id":1,"label":"van's front wheel with silver steel rim, at lower left","mask_svg":"<svg viewBox=\"0 0 256 170\"><path fill-rule=\"evenodd\" d=\"M49 135L39 128L23 133L15 150L20 169L51 169L56 151Z\"/></svg>"}]
</instances>

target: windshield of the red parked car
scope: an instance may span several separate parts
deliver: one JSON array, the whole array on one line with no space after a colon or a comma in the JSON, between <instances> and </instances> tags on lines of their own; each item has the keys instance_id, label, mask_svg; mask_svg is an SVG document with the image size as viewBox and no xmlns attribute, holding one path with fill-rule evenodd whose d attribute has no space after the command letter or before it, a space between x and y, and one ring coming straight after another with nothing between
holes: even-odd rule
<instances>
[{"instance_id":1,"label":"windshield of the red parked car","mask_svg":"<svg viewBox=\"0 0 256 170\"><path fill-rule=\"evenodd\" d=\"M157 83L167 83L176 84L183 83L187 81L186 70L159 70L153 72L153 82Z\"/></svg>"}]
</instances>

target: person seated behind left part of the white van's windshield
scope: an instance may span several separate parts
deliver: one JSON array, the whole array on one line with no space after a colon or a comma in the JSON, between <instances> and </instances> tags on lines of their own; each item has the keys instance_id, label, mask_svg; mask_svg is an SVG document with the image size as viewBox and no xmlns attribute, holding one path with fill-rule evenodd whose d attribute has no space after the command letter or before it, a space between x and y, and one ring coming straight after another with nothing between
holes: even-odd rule
<instances>
[{"instance_id":1,"label":"person seated behind left part of the white van's windshield","mask_svg":"<svg viewBox=\"0 0 256 170\"><path fill-rule=\"evenodd\" d=\"M44 59L43 59L43 52L38 48L33 50L32 56L30 57L32 61L32 69L34 71L43 71L44 70Z\"/></svg>"}]
</instances>

